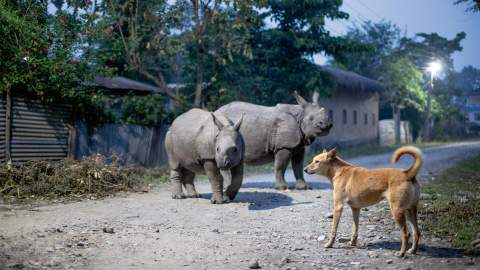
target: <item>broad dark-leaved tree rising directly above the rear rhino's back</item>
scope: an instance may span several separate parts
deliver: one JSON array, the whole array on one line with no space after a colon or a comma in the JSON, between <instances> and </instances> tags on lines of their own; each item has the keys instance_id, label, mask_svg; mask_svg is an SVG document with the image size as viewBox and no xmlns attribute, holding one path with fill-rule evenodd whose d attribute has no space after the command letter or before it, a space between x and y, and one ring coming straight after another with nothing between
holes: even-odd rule
<instances>
[{"instance_id":1,"label":"broad dark-leaved tree rising directly above the rear rhino's back","mask_svg":"<svg viewBox=\"0 0 480 270\"><path fill-rule=\"evenodd\" d=\"M258 6L260 19L248 29L251 57L237 55L220 69L213 91L208 92L209 106L231 100L263 105L292 102L293 90L303 95L333 94L334 80L312 58L324 53L343 62L344 53L357 49L355 42L333 37L325 28L327 18L348 18L340 6L336 0L269 0Z\"/></svg>"}]
</instances>

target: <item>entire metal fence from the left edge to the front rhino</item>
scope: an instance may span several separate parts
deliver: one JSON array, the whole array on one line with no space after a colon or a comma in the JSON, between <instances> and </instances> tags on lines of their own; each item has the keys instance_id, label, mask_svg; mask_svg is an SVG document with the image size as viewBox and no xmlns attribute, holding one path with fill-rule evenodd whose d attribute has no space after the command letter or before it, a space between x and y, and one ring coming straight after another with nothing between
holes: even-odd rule
<instances>
[{"instance_id":1,"label":"entire metal fence from the left edge to the front rhino","mask_svg":"<svg viewBox=\"0 0 480 270\"><path fill-rule=\"evenodd\" d=\"M89 134L86 124L78 122L75 134L70 126L70 105L42 104L38 100L12 97L8 109L7 100L0 98L1 163L6 162L8 156L12 164L60 160L69 156L70 148L75 148L72 149L75 158L99 153L116 155L123 164L158 166L167 162L163 143L166 126L107 124L94 128Z\"/></svg>"}]
</instances>

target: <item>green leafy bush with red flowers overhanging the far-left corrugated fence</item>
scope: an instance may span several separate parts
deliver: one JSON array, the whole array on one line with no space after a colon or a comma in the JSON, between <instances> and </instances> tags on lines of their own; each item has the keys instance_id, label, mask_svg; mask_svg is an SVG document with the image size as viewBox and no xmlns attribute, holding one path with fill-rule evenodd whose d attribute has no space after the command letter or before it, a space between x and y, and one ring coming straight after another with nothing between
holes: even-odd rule
<instances>
[{"instance_id":1,"label":"green leafy bush with red flowers overhanging the far-left corrugated fence","mask_svg":"<svg viewBox=\"0 0 480 270\"><path fill-rule=\"evenodd\" d=\"M44 102L74 104L90 123L103 116L105 98L85 82L102 73L92 65L88 46L88 13L58 10L50 14L44 1L0 0L0 91Z\"/></svg>"}]
</instances>

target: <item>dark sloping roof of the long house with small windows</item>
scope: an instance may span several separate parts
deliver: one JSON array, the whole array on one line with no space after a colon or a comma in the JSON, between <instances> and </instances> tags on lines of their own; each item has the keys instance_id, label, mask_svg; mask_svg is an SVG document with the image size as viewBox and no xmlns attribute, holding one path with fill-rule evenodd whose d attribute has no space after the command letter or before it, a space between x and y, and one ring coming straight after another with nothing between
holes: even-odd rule
<instances>
[{"instance_id":1,"label":"dark sloping roof of the long house with small windows","mask_svg":"<svg viewBox=\"0 0 480 270\"><path fill-rule=\"evenodd\" d=\"M348 91L380 92L383 86L375 80L358 75L355 72L321 66L320 70L330 74L337 83L337 89Z\"/></svg>"}]
</instances>

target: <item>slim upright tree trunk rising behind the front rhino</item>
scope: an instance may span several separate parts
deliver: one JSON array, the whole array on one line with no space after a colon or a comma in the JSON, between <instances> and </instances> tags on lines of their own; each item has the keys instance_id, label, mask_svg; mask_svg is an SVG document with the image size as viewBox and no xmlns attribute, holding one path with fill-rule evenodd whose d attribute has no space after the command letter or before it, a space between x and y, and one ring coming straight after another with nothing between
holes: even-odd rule
<instances>
[{"instance_id":1,"label":"slim upright tree trunk rising behind the front rhino","mask_svg":"<svg viewBox=\"0 0 480 270\"><path fill-rule=\"evenodd\" d=\"M197 53L197 67L196 67L196 77L195 77L195 101L193 102L193 107L200 108L202 103L202 84L203 84L203 50L202 50L202 25L200 22L200 6L199 0L193 0L193 12L194 12L194 22L195 22L195 40L196 40L196 53ZM205 16L204 14L202 14Z\"/></svg>"}]
</instances>

